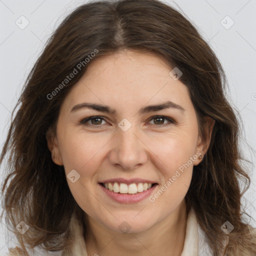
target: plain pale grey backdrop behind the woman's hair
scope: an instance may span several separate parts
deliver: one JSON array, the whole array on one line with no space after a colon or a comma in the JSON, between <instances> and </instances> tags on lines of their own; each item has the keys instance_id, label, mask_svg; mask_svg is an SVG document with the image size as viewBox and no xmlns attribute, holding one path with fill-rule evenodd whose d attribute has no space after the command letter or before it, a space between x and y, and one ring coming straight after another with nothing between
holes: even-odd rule
<instances>
[{"instance_id":1,"label":"plain pale grey backdrop behind the woman's hair","mask_svg":"<svg viewBox=\"0 0 256 256\"><path fill-rule=\"evenodd\" d=\"M228 78L229 91L226 96L242 117L241 149L244 156L255 163L255 154L244 141L255 149L256 0L164 1L183 11L218 56ZM44 43L63 18L85 2L86 0L0 0L1 148L9 126L10 112ZM26 23L27 26L22 27ZM0 182L4 176L3 171L4 166L1 166ZM247 218L247 221L255 227L254 165L250 166L250 176L251 186L242 202L246 212L252 217ZM6 243L14 241L12 237L6 235L3 222L0 226L0 255L7 251Z\"/></svg>"}]
</instances>

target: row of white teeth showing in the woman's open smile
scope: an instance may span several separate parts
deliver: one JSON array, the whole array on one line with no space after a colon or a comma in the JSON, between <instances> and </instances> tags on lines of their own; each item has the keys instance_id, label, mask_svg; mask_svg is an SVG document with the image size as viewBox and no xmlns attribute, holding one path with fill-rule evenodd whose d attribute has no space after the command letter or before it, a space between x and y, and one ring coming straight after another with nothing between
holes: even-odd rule
<instances>
[{"instance_id":1,"label":"row of white teeth showing in the woman's open smile","mask_svg":"<svg viewBox=\"0 0 256 256\"><path fill-rule=\"evenodd\" d=\"M107 182L99 183L106 189L113 191L114 193L121 194L136 194L148 190L152 186L157 185L157 183L118 183L118 182Z\"/></svg>"}]
</instances>

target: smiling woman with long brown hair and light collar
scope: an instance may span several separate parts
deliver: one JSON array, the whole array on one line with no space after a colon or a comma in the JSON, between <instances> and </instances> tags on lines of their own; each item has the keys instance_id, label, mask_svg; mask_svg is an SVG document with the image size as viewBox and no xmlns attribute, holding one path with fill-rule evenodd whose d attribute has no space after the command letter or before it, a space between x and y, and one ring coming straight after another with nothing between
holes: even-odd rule
<instances>
[{"instance_id":1,"label":"smiling woman with long brown hair and light collar","mask_svg":"<svg viewBox=\"0 0 256 256\"><path fill-rule=\"evenodd\" d=\"M9 255L255 255L224 85L172 7L75 9L32 68L2 150Z\"/></svg>"}]
</instances>

